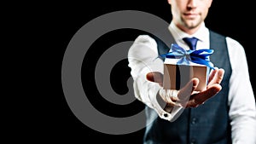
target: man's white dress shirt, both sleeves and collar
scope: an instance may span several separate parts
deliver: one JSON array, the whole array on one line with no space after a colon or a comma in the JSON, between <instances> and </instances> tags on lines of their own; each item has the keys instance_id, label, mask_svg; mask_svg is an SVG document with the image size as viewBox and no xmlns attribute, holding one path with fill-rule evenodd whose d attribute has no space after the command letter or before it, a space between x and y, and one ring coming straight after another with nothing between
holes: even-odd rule
<instances>
[{"instance_id":1,"label":"man's white dress shirt, both sleeves and collar","mask_svg":"<svg viewBox=\"0 0 256 144\"><path fill-rule=\"evenodd\" d=\"M193 35L182 32L172 22L168 28L176 43L182 48L189 49L183 42L183 37L197 37L199 41L196 49L210 49L209 30L204 23ZM236 40L226 37L226 42L232 68L228 99L232 141L233 143L256 144L256 108L248 73L247 57L243 47ZM155 59L156 57L158 57L158 50L154 38L148 35L138 36L128 53L131 76L134 80L134 93L139 101L143 101L148 107L153 108L160 118L174 121L183 112L183 107L174 107L172 112L165 112L156 101L156 95L162 88L159 84L146 79L148 72L163 73L163 61Z\"/></svg>"}]
</instances>

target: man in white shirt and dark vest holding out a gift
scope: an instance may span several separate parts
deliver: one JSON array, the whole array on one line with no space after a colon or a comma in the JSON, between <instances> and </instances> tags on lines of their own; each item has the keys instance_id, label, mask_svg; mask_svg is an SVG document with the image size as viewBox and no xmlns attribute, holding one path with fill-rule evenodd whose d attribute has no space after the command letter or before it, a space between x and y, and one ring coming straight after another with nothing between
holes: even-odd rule
<instances>
[{"instance_id":1,"label":"man in white shirt and dark vest holding out a gift","mask_svg":"<svg viewBox=\"0 0 256 144\"><path fill-rule=\"evenodd\" d=\"M206 90L195 91L198 78L181 89L163 89L163 60L155 58L165 48L155 37L137 37L128 60L135 95L146 104L144 143L255 144L255 99L243 47L205 26L212 0L168 3L173 43L189 50L183 38L196 37L196 49L214 49L210 59L215 70L209 75Z\"/></svg>"}]
</instances>

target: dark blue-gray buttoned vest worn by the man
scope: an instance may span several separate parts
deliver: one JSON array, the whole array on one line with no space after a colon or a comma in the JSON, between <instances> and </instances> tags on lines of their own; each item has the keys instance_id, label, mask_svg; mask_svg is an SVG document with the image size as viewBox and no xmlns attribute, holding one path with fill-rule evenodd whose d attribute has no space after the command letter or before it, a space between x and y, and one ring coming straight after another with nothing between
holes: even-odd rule
<instances>
[{"instance_id":1,"label":"dark blue-gray buttoned vest worn by the man","mask_svg":"<svg viewBox=\"0 0 256 144\"><path fill-rule=\"evenodd\" d=\"M154 37L155 38L155 37ZM165 44L155 38L160 54L169 51ZM196 108L186 108L174 122L155 118L144 135L146 144L228 144L231 143L229 120L229 80L231 75L230 59L225 37L210 31L210 48L214 53L210 59L214 66L224 68L223 89L218 95ZM146 115L156 112L146 107Z\"/></svg>"}]
</instances>

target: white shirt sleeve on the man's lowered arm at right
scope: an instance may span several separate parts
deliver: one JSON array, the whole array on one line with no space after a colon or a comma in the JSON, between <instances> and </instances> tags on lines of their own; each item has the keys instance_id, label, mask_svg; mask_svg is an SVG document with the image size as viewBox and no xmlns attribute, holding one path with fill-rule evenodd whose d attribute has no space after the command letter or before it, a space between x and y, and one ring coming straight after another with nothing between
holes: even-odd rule
<instances>
[{"instance_id":1,"label":"white shirt sleeve on the man's lowered arm at right","mask_svg":"<svg viewBox=\"0 0 256 144\"><path fill-rule=\"evenodd\" d=\"M232 74L230 78L230 124L234 144L256 143L256 109L247 58L240 43L227 37Z\"/></svg>"}]
</instances>

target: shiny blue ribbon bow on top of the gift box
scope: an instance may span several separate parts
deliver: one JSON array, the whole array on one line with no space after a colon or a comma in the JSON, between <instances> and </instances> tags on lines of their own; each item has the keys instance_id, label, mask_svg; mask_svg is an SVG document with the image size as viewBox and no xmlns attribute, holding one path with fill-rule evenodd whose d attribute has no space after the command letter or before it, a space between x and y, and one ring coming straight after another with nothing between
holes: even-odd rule
<instances>
[{"instance_id":1,"label":"shiny blue ribbon bow on top of the gift box","mask_svg":"<svg viewBox=\"0 0 256 144\"><path fill-rule=\"evenodd\" d=\"M160 55L161 57L180 59L177 65L189 65L189 61L208 66L214 70L212 62L209 60L209 55L212 55L213 49L199 49L199 50L185 50L173 44L171 46L172 52Z\"/></svg>"}]
</instances>

